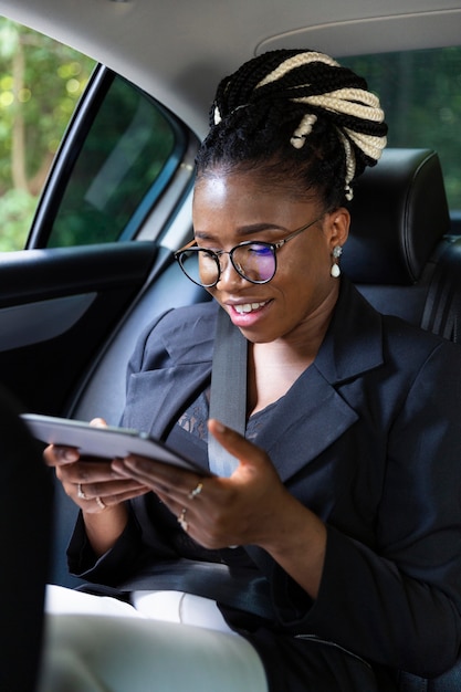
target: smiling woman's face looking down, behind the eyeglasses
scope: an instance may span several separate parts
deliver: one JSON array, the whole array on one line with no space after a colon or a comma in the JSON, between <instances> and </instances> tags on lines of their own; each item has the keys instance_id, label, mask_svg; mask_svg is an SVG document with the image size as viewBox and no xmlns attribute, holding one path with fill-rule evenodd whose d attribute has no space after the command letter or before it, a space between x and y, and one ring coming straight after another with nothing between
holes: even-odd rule
<instances>
[{"instance_id":1,"label":"smiling woman's face looking down, behind the eyeglasses","mask_svg":"<svg viewBox=\"0 0 461 692\"><path fill-rule=\"evenodd\" d=\"M268 188L253 172L201 178L193 197L193 228L199 247L229 252L252 240L277 242L321 218L276 250L275 276L252 284L221 256L221 276L209 290L233 324L253 343L307 334L333 310L338 280L332 279L332 251L347 238L345 209L324 213L318 201L294 200L280 187Z\"/></svg>"}]
</instances>

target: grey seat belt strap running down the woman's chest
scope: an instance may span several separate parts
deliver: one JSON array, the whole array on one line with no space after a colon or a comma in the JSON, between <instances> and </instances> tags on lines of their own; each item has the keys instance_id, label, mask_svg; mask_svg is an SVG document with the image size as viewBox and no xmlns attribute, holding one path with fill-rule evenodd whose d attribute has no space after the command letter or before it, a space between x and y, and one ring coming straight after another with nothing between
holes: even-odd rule
<instances>
[{"instance_id":1,"label":"grey seat belt strap running down the woman's chest","mask_svg":"<svg viewBox=\"0 0 461 692\"><path fill-rule=\"evenodd\" d=\"M211 370L210 418L241 434L244 434L247 418L247 339L220 308ZM212 434L208 439L208 459L211 472L226 478L239 463Z\"/></svg>"}]
</instances>

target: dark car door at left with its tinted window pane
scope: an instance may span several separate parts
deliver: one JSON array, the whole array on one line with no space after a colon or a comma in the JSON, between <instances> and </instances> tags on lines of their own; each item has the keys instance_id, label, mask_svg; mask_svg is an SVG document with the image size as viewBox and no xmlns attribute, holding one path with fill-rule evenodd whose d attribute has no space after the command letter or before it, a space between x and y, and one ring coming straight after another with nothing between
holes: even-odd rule
<instances>
[{"instance_id":1,"label":"dark car door at left with its tinted window pane","mask_svg":"<svg viewBox=\"0 0 461 692\"><path fill-rule=\"evenodd\" d=\"M196 147L154 98L95 70L27 248L0 254L0 379L25 409L65 415L116 325L172 262L171 233L179 247L190 231L178 212Z\"/></svg>"}]
</instances>

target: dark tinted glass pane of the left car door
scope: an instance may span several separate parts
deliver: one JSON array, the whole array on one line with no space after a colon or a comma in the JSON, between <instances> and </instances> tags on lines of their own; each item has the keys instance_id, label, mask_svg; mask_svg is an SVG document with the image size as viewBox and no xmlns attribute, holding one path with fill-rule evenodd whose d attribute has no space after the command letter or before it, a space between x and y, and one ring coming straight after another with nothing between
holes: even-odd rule
<instances>
[{"instance_id":1,"label":"dark tinted glass pane of the left car door","mask_svg":"<svg viewBox=\"0 0 461 692\"><path fill-rule=\"evenodd\" d=\"M161 106L113 76L80 151L73 151L76 160L46 245L133 238L184 147L181 130Z\"/></svg>"}]
</instances>

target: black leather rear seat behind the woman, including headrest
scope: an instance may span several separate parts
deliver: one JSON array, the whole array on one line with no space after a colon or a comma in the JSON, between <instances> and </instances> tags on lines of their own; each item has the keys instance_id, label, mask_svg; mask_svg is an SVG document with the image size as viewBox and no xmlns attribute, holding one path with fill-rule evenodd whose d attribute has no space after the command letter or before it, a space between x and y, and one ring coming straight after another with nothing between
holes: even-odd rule
<instances>
[{"instance_id":1,"label":"black leather rear seat behind the woman, including headrest","mask_svg":"<svg viewBox=\"0 0 461 692\"><path fill-rule=\"evenodd\" d=\"M356 186L350 237L342 269L380 312L398 315L461 342L461 238L450 237L441 167L429 149L387 149ZM142 328L156 314L207 300L179 268L169 265L126 316L88 375L67 415L103 416L116 424L124 406L125 370ZM75 586L66 574L65 546L75 507L56 491L53 581ZM404 675L401 692L454 692L460 671L440 681ZM458 685L458 686L455 686Z\"/></svg>"}]
</instances>

